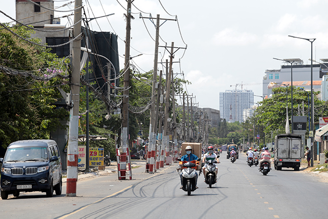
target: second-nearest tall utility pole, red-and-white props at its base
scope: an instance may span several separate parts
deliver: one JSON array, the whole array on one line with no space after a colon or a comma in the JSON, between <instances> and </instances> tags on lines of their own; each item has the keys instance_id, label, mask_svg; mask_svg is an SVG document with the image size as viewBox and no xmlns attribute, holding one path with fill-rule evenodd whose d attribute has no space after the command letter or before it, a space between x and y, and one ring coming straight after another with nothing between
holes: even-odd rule
<instances>
[{"instance_id":1,"label":"second-nearest tall utility pole, red-and-white props at its base","mask_svg":"<svg viewBox=\"0 0 328 219\"><path fill-rule=\"evenodd\" d=\"M120 175L121 179L125 180L126 175L126 158L128 145L128 129L129 129L129 84L130 84L130 32L131 32L131 0L128 1L127 12L126 12L126 36L125 36L125 62L124 62L124 85L123 85L123 106L122 106L122 139L120 151L121 163L120 165Z\"/></svg>"}]
</instances>

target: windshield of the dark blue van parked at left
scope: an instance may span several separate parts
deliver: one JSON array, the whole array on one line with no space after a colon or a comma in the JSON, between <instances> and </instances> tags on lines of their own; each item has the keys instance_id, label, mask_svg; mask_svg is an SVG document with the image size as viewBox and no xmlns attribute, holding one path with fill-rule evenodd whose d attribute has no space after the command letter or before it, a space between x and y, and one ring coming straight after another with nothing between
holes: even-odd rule
<instances>
[{"instance_id":1,"label":"windshield of the dark blue van parked at left","mask_svg":"<svg viewBox=\"0 0 328 219\"><path fill-rule=\"evenodd\" d=\"M9 148L3 162L48 160L47 147Z\"/></svg>"}]
</instances>

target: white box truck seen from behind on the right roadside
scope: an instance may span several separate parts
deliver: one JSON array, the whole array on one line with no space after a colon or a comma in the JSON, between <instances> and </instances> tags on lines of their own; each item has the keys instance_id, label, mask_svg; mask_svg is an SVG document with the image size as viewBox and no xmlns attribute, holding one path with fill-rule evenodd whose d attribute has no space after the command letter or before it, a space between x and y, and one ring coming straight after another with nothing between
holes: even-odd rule
<instances>
[{"instance_id":1,"label":"white box truck seen from behind on the right roadside","mask_svg":"<svg viewBox=\"0 0 328 219\"><path fill-rule=\"evenodd\" d=\"M274 144L274 169L281 170L282 167L292 167L300 170L301 161L304 156L302 136L299 134L278 134Z\"/></svg>"}]
</instances>

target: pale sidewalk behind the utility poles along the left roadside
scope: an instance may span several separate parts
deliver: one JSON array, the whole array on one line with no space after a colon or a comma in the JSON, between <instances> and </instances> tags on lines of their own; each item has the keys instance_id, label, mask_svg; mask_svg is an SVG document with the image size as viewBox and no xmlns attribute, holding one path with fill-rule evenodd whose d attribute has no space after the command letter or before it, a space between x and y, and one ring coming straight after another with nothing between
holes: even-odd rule
<instances>
[{"instance_id":1,"label":"pale sidewalk behind the utility poles along the left roadside","mask_svg":"<svg viewBox=\"0 0 328 219\"><path fill-rule=\"evenodd\" d=\"M146 160L131 160L131 168L145 168ZM98 170L97 168L90 168L90 172L85 173L82 171L78 172L78 181L81 179L95 177L95 176L103 176L109 174L117 174L117 162L111 161L109 166L105 167L105 170ZM63 183L66 183L66 171L62 171L63 175Z\"/></svg>"}]
</instances>

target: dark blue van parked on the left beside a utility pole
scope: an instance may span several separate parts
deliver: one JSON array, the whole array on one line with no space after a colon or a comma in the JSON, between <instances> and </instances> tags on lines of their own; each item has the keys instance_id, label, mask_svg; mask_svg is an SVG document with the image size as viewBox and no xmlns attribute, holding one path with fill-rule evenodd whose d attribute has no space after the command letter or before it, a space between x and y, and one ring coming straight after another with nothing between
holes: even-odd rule
<instances>
[{"instance_id":1,"label":"dark blue van parked on the left beside a utility pole","mask_svg":"<svg viewBox=\"0 0 328 219\"><path fill-rule=\"evenodd\" d=\"M15 141L0 158L1 198L20 192L45 192L47 197L62 194L62 162L54 140Z\"/></svg>"}]
</instances>

